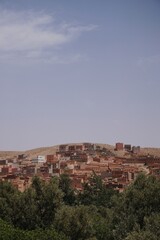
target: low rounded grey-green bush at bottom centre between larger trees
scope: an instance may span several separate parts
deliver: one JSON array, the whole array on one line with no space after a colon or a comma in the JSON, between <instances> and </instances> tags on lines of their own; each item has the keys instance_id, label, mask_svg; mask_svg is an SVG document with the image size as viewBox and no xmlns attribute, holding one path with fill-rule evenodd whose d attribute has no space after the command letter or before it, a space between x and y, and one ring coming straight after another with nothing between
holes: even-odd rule
<instances>
[{"instance_id":1,"label":"low rounded grey-green bush at bottom centre between larger trees","mask_svg":"<svg viewBox=\"0 0 160 240\"><path fill-rule=\"evenodd\" d=\"M87 206L64 206L55 217L54 226L71 240L95 237L93 209Z\"/></svg>"}]
</instances>

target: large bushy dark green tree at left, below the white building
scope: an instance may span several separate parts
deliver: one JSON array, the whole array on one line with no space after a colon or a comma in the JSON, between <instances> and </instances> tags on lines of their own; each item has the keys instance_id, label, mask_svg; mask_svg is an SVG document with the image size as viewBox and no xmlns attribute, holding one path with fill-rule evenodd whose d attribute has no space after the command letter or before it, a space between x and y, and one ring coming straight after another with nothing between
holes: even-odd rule
<instances>
[{"instance_id":1,"label":"large bushy dark green tree at left, below the white building","mask_svg":"<svg viewBox=\"0 0 160 240\"><path fill-rule=\"evenodd\" d=\"M12 222L25 230L49 227L63 203L62 200L63 193L56 178L44 182L35 177L32 186L16 199Z\"/></svg>"}]
</instances>

